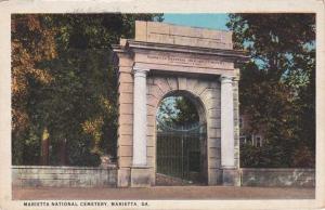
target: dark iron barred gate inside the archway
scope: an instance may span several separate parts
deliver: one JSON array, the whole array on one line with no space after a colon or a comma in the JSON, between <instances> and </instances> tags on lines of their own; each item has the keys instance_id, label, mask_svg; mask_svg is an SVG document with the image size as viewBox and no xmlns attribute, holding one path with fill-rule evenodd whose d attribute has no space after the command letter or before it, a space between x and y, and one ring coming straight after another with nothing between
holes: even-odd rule
<instances>
[{"instance_id":1,"label":"dark iron barred gate inside the archway","mask_svg":"<svg viewBox=\"0 0 325 210\"><path fill-rule=\"evenodd\" d=\"M206 123L170 127L158 122L157 173L190 183L203 183Z\"/></svg>"}]
</instances>

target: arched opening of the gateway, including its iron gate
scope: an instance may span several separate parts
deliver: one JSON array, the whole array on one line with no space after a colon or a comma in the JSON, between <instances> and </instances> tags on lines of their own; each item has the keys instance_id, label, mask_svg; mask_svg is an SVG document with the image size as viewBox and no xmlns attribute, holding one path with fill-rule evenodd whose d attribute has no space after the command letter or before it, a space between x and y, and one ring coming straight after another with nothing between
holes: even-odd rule
<instances>
[{"instance_id":1,"label":"arched opening of the gateway, including its iron gate","mask_svg":"<svg viewBox=\"0 0 325 210\"><path fill-rule=\"evenodd\" d=\"M156 115L156 185L207 183L207 120L187 91L168 93Z\"/></svg>"}]
</instances>

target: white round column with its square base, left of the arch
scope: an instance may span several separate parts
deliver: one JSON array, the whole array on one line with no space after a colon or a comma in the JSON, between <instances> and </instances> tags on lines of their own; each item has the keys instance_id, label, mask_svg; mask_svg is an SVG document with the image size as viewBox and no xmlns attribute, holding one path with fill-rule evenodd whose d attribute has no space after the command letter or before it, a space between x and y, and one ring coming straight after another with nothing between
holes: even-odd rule
<instances>
[{"instance_id":1,"label":"white round column with its square base, left of the arch","mask_svg":"<svg viewBox=\"0 0 325 210\"><path fill-rule=\"evenodd\" d=\"M146 160L146 74L148 69L133 67L133 159L131 186L151 185Z\"/></svg>"}]
</instances>

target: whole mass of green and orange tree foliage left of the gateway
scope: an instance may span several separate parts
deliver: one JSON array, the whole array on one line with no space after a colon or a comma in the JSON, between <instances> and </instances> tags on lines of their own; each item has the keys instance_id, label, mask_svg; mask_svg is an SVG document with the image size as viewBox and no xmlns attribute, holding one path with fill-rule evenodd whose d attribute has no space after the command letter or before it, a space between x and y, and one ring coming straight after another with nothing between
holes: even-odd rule
<instances>
[{"instance_id":1,"label":"whole mass of green and orange tree foliage left of the gateway","mask_svg":"<svg viewBox=\"0 0 325 210\"><path fill-rule=\"evenodd\" d=\"M50 163L66 142L69 165L95 166L116 153L117 83L112 44L134 21L159 14L12 16L13 163L38 165L44 131Z\"/></svg>"}]
</instances>

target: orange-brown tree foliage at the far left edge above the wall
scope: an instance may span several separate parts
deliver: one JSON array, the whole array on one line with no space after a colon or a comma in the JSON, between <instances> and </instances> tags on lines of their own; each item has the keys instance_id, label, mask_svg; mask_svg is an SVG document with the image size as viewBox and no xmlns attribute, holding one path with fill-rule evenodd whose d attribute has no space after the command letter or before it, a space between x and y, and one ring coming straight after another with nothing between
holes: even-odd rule
<instances>
[{"instance_id":1,"label":"orange-brown tree foliage at the far left edge above the wall","mask_svg":"<svg viewBox=\"0 0 325 210\"><path fill-rule=\"evenodd\" d=\"M43 121L35 123L36 93L53 78L38 63L56 56L54 31L40 15L12 15L12 162L38 163Z\"/></svg>"}]
</instances>

